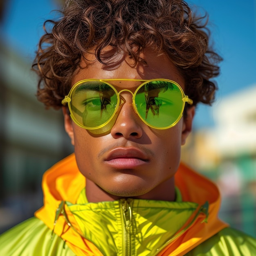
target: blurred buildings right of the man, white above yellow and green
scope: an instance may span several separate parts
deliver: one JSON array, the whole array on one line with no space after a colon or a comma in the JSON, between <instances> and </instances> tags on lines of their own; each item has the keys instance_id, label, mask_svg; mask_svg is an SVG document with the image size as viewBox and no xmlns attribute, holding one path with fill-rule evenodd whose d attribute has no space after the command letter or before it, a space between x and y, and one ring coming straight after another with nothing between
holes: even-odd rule
<instances>
[{"instance_id":1,"label":"blurred buildings right of the man, white above yellow and green","mask_svg":"<svg viewBox=\"0 0 256 256\"><path fill-rule=\"evenodd\" d=\"M256 84L213 108L215 126L196 131L183 160L216 181L220 216L256 237Z\"/></svg>"}]
</instances>

